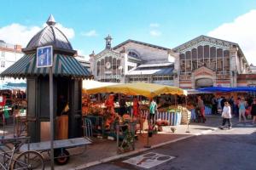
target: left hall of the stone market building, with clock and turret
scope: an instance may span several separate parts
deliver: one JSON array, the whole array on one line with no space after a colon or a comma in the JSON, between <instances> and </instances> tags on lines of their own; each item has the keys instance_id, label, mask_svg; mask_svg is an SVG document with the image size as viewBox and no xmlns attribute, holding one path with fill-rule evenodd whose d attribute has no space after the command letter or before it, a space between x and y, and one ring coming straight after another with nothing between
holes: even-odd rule
<instances>
[{"instance_id":1,"label":"left hall of the stone market building, with clock and turret","mask_svg":"<svg viewBox=\"0 0 256 170\"><path fill-rule=\"evenodd\" d=\"M106 48L90 54L90 70L100 82L151 82L174 86L174 58L170 48L127 40L112 48L112 37L105 38Z\"/></svg>"}]
</instances>

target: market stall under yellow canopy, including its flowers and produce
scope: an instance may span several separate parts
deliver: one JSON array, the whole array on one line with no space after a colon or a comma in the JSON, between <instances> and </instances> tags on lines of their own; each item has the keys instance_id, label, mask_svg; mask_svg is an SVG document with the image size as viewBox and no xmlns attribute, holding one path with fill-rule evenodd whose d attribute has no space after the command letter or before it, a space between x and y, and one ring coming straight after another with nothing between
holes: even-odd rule
<instances>
[{"instance_id":1,"label":"market stall under yellow canopy, including its flowers and produce","mask_svg":"<svg viewBox=\"0 0 256 170\"><path fill-rule=\"evenodd\" d=\"M87 113L84 114L84 124L87 130L84 130L84 133L102 133L103 137L113 137L118 141L119 138L122 141L131 140L131 136L135 137L137 130L141 132L148 129L148 122L146 121L148 119L148 99L155 97L158 100L158 111L155 113L153 122L160 126L175 126L181 123L185 107L178 106L177 102L171 104L171 101L169 101L170 105L166 105L168 102L164 96L160 97L160 94L165 94L168 98L171 98L172 95L172 98L176 100L178 95L186 95L186 91L183 89L145 82L110 84L109 86L102 84L99 86L101 87L84 90L88 103ZM101 102L100 99L91 102L90 95L93 94L105 94L106 100ZM124 105L125 114L122 113ZM139 105L138 115L136 105ZM188 117L188 112L186 112L186 117ZM134 127L135 125L136 127ZM91 127L92 130L88 131L88 127ZM126 145L132 146L133 144Z\"/></svg>"}]
</instances>

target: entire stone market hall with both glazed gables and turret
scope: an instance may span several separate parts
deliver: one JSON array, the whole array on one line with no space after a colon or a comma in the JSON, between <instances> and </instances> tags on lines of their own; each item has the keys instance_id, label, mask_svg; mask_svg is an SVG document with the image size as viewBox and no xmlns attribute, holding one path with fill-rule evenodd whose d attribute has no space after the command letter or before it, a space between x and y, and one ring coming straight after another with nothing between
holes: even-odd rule
<instances>
[{"instance_id":1,"label":"entire stone market hall with both glazed gables and turret","mask_svg":"<svg viewBox=\"0 0 256 170\"><path fill-rule=\"evenodd\" d=\"M151 82L195 89L255 86L256 77L240 46L200 36L177 48L127 40L90 54L90 69L100 82Z\"/></svg>"}]
</instances>

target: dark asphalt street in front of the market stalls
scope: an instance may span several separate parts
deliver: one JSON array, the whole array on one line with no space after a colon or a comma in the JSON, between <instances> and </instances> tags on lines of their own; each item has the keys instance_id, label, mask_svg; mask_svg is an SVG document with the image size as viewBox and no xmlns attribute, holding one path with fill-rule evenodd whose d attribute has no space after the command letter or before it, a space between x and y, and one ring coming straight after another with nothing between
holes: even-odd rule
<instances>
[{"instance_id":1,"label":"dark asphalt street in front of the market stalls","mask_svg":"<svg viewBox=\"0 0 256 170\"><path fill-rule=\"evenodd\" d=\"M176 157L171 161L166 161L149 169L255 170L256 128L236 125L231 130L217 130L213 133L167 144L148 152ZM143 169L143 167L132 166L122 162L131 157L134 156L88 169Z\"/></svg>"}]
</instances>

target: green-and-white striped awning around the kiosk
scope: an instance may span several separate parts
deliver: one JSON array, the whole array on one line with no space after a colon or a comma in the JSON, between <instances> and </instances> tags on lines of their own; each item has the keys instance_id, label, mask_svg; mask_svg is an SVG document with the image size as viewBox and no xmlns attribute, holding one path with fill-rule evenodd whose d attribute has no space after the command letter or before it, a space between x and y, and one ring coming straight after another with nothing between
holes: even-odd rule
<instances>
[{"instance_id":1,"label":"green-and-white striped awning around the kiosk","mask_svg":"<svg viewBox=\"0 0 256 170\"><path fill-rule=\"evenodd\" d=\"M90 72L80 65L79 61L72 56L55 54L52 71L55 77L90 77ZM38 68L36 54L26 54L14 65L3 71L0 77L38 77L49 74L49 68Z\"/></svg>"}]
</instances>

